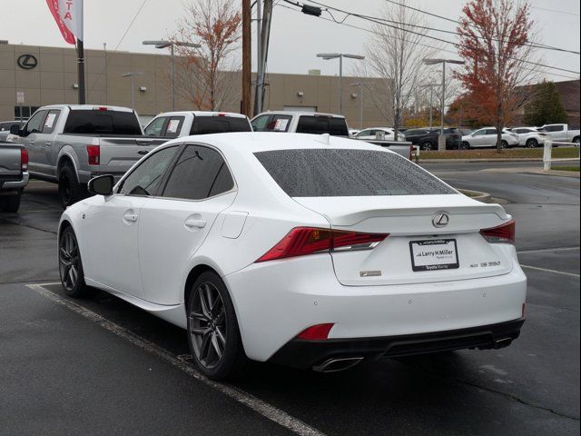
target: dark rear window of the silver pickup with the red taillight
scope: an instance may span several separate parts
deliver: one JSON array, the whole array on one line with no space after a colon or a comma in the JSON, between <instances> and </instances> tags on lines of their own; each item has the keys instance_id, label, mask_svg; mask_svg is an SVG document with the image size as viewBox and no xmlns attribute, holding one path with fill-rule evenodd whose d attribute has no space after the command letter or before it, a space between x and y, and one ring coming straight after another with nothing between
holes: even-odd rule
<instances>
[{"instance_id":1,"label":"dark rear window of the silver pickup with the red taillight","mask_svg":"<svg viewBox=\"0 0 581 436\"><path fill-rule=\"evenodd\" d=\"M142 127L133 112L72 110L64 124L65 134L133 134Z\"/></svg>"}]
</instances>

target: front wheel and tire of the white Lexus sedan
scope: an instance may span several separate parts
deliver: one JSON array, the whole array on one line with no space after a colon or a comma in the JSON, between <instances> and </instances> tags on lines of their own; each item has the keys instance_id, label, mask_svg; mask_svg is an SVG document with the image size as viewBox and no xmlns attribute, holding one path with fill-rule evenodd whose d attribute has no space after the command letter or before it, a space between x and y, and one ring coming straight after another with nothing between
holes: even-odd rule
<instances>
[{"instance_id":1,"label":"front wheel and tire of the white Lexus sedan","mask_svg":"<svg viewBox=\"0 0 581 436\"><path fill-rule=\"evenodd\" d=\"M92 293L84 282L81 250L71 226L65 227L59 237L58 272L63 291L69 297L83 298Z\"/></svg>"}]
</instances>

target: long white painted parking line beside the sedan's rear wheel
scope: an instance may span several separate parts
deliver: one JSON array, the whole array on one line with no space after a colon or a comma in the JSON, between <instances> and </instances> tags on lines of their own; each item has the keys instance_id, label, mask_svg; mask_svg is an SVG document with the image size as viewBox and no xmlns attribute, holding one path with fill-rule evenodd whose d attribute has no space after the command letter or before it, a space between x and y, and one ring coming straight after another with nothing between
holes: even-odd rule
<instances>
[{"instance_id":1,"label":"long white painted parking line beside the sedan's rear wheel","mask_svg":"<svg viewBox=\"0 0 581 436\"><path fill-rule=\"evenodd\" d=\"M67 309L70 309L73 312L76 312L83 316L84 318L99 324L103 329L113 332L117 336L123 338L125 341L133 343L137 347L141 348L145 352L149 352L160 359L164 360L165 362L171 363L173 366L182 370L189 376L193 377L198 381L202 381L202 383L210 386L212 389L221 392L222 394L230 397L232 400L240 402L241 404L247 406L252 411L255 411L264 418L274 421L277 424L281 425L282 427L299 434L300 436L325 436L324 433L310 427L310 425L298 420L297 418L292 417L290 414L286 413L285 411L281 411L281 409L269 404L266 401L262 401L259 398L251 395L246 391L242 391L235 386L230 384L221 383L218 381L212 381L204 376L202 373L196 371L191 364L188 362L184 362L178 359L176 356L172 355L170 352L167 352L159 345L154 344L153 342L149 342L140 336L137 336L133 332L124 329L120 325L115 324L114 322L110 322L103 316L99 315L98 313L89 311L85 309L80 304L75 302L71 302L66 300L65 298L61 297L57 293L48 291L44 288L44 286L60 284L59 282L51 282L51 283L35 283L35 284L27 284L26 286L35 292L40 293L44 297L56 302L58 304L63 305Z\"/></svg>"}]
</instances>

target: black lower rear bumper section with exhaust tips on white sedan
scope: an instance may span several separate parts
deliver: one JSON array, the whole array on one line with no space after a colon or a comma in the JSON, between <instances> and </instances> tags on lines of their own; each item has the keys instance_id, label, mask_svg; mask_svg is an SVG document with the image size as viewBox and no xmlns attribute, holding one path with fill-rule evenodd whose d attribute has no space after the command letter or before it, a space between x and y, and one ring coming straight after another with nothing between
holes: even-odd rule
<instances>
[{"instance_id":1,"label":"black lower rear bumper section with exhaust tips on white sedan","mask_svg":"<svg viewBox=\"0 0 581 436\"><path fill-rule=\"evenodd\" d=\"M307 369L319 366L331 359L363 358L366 361L377 361L467 348L498 349L508 346L517 339L524 322L524 318L519 318L514 321L468 329L379 338L328 341L293 339L276 352L269 362Z\"/></svg>"}]
</instances>

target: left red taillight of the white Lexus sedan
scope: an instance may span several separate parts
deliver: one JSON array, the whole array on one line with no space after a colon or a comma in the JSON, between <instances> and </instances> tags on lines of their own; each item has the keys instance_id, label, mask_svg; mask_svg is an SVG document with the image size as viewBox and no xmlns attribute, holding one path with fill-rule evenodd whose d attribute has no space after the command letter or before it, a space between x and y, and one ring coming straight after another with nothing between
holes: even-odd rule
<instances>
[{"instance_id":1,"label":"left red taillight of the white Lexus sedan","mask_svg":"<svg viewBox=\"0 0 581 436\"><path fill-rule=\"evenodd\" d=\"M388 236L388 233L357 233L295 227L256 262L331 251L369 250Z\"/></svg>"}]
</instances>

